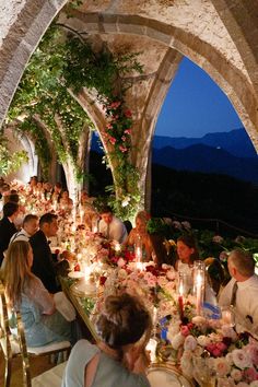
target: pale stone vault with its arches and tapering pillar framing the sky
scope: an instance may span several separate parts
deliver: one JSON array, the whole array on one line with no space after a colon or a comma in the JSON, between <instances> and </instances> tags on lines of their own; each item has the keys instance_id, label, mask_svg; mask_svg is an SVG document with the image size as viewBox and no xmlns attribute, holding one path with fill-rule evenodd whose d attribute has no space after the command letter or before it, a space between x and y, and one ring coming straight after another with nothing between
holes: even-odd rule
<instances>
[{"instance_id":1,"label":"pale stone vault with its arches and tapering pillar framing the sky","mask_svg":"<svg viewBox=\"0 0 258 387\"><path fill-rule=\"evenodd\" d=\"M14 10L15 1L11 0L11 3ZM61 0L23 0L20 10L16 9L15 20L10 17L9 30L3 32L5 39L0 46L0 120L30 55L64 3ZM132 87L127 94L136 125L131 159L144 184L155 121L180 55L200 66L224 91L258 149L256 4L257 0L254 3L235 1L234 4L230 0L197 0L195 3L174 0L165 4L163 0L102 1L97 4L87 0L74 11L74 17L66 20L77 30L91 34L93 39L94 35L106 39L110 49L119 48L117 42L122 39L134 43L132 51L136 43L146 48L152 66L148 66L143 78L132 79ZM143 64L148 64L142 59ZM137 98L138 94L145 94L145 97ZM141 187L144 191L143 183ZM145 197L143 200L148 202Z\"/></svg>"}]
</instances>

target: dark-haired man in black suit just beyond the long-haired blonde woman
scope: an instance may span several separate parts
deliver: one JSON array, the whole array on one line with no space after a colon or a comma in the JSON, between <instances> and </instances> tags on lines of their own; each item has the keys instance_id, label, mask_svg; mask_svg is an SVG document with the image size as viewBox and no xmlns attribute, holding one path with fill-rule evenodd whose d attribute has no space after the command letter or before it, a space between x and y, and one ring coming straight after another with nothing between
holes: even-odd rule
<instances>
[{"instance_id":1,"label":"dark-haired man in black suit just beyond the long-haired blonde woman","mask_svg":"<svg viewBox=\"0 0 258 387\"><path fill-rule=\"evenodd\" d=\"M42 280L49 293L57 293L60 291L57 281L58 271L60 267L69 267L67 261L60 263L55 261L55 255L51 254L47 238L56 236L57 231L57 215L48 212L39 219L39 230L30 239L33 248L32 271Z\"/></svg>"}]
</instances>

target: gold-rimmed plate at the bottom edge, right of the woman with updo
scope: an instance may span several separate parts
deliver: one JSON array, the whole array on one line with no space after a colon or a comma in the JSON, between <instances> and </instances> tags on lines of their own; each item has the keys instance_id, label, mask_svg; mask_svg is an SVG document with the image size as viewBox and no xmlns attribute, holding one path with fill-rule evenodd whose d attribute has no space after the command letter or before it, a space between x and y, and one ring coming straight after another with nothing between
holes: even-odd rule
<instances>
[{"instance_id":1,"label":"gold-rimmed plate at the bottom edge, right of the woman with updo","mask_svg":"<svg viewBox=\"0 0 258 387\"><path fill-rule=\"evenodd\" d=\"M167 364L152 364L146 373L151 387L192 387L184 375Z\"/></svg>"}]
</instances>

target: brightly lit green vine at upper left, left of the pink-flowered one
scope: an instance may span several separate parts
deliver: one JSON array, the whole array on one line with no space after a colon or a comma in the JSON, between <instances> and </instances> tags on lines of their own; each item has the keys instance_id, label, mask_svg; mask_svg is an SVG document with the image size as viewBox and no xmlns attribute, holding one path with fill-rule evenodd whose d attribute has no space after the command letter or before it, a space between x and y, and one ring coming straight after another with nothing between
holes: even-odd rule
<instances>
[{"instance_id":1,"label":"brightly lit green vine at upper left, left of the pink-flowered one","mask_svg":"<svg viewBox=\"0 0 258 387\"><path fill-rule=\"evenodd\" d=\"M79 175L82 174L77 165L79 138L86 124L92 128L93 126L63 84L64 68L63 33L52 24L24 72L11 104L8 121L13 121L21 115L25 117L20 130L33 136L37 141L37 154L46 169L50 151L40 125L36 124L35 117L38 117L50 132L59 161L64 163L71 157Z\"/></svg>"}]
</instances>

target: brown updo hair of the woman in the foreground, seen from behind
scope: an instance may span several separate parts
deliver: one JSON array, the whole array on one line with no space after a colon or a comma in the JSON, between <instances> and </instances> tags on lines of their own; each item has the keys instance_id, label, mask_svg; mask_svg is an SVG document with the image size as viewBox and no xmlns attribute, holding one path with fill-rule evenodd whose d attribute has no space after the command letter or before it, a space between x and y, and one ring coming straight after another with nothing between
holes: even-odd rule
<instances>
[{"instance_id":1,"label":"brown updo hair of the woman in the foreground, seen from behind","mask_svg":"<svg viewBox=\"0 0 258 387\"><path fill-rule=\"evenodd\" d=\"M113 349L137 342L151 327L152 320L146 308L137 297L127 293L109 295L96 321L99 337Z\"/></svg>"}]
</instances>

